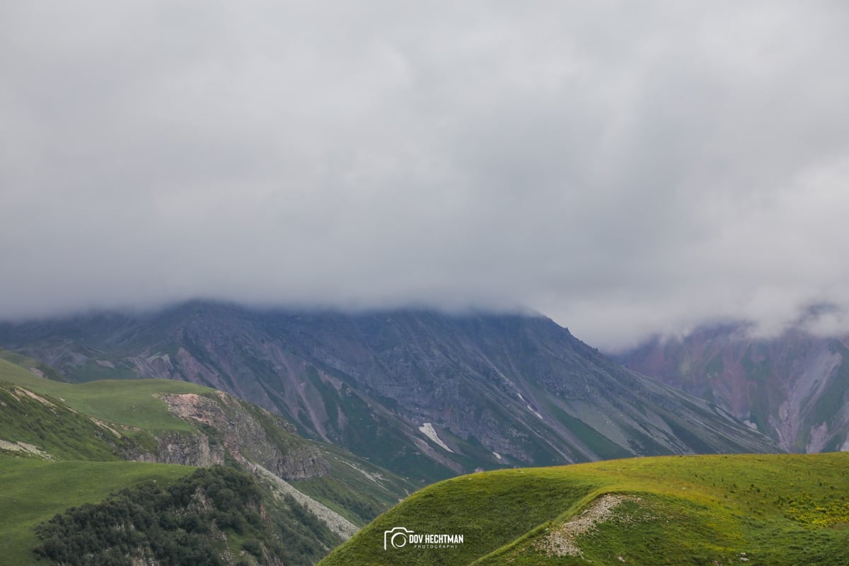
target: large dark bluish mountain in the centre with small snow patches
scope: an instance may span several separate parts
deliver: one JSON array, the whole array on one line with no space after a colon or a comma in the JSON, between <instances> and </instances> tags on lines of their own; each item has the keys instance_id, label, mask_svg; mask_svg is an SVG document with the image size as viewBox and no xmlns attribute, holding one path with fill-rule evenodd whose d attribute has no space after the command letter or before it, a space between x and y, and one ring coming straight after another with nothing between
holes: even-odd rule
<instances>
[{"instance_id":1,"label":"large dark bluish mountain in the centre with small snow patches","mask_svg":"<svg viewBox=\"0 0 849 566\"><path fill-rule=\"evenodd\" d=\"M545 317L256 311L194 301L0 325L67 378L210 385L397 473L774 451L726 412L622 368Z\"/></svg>"}]
</instances>

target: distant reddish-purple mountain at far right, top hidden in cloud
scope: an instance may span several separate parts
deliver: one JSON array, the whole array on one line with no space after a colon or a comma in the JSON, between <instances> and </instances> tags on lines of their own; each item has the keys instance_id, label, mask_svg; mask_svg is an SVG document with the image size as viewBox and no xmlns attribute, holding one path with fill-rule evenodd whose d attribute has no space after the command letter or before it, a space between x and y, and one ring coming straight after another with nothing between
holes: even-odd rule
<instances>
[{"instance_id":1,"label":"distant reddish-purple mountain at far right, top hidden in cloud","mask_svg":"<svg viewBox=\"0 0 849 566\"><path fill-rule=\"evenodd\" d=\"M849 450L849 341L790 330L750 339L745 327L700 328L619 359L715 402L786 451Z\"/></svg>"}]
</instances>

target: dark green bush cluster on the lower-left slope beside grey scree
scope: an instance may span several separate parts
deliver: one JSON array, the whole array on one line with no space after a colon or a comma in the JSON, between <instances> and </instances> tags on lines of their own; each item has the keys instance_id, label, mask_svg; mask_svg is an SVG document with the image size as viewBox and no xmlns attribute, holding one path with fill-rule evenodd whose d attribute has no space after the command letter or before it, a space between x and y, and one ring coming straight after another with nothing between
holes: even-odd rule
<instances>
[{"instance_id":1,"label":"dark green bush cluster on the lower-left slope beside grey scree","mask_svg":"<svg viewBox=\"0 0 849 566\"><path fill-rule=\"evenodd\" d=\"M227 546L243 563L312 564L338 542L291 497L273 502L253 476L223 466L70 508L40 524L37 535L39 557L69 566L130 566L133 558L219 566Z\"/></svg>"}]
</instances>

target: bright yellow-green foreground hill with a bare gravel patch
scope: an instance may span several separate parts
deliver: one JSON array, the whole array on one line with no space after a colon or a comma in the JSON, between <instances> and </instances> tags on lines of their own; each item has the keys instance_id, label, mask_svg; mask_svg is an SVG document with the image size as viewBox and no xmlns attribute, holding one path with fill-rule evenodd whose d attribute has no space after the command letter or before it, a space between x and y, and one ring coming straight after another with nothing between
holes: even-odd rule
<instances>
[{"instance_id":1,"label":"bright yellow-green foreground hill with a bare gravel patch","mask_svg":"<svg viewBox=\"0 0 849 566\"><path fill-rule=\"evenodd\" d=\"M583 558L537 550L535 543L605 493L626 501L613 518L576 537ZM849 453L651 457L502 470L420 490L321 564L843 565L849 563L847 494ZM465 541L453 549L384 551L384 531L397 526L463 534Z\"/></svg>"}]
</instances>

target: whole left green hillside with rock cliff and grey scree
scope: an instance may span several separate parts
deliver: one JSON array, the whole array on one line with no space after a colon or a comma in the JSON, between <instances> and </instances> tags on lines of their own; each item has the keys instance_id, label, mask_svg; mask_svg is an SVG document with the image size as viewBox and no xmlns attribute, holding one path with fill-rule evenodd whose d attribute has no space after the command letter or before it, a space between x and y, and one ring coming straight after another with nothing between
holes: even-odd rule
<instances>
[{"instance_id":1,"label":"whole left green hillside with rock cliff and grey scree","mask_svg":"<svg viewBox=\"0 0 849 566\"><path fill-rule=\"evenodd\" d=\"M14 358L8 352L4 355ZM48 369L40 371L46 375ZM187 409L189 416L185 412L175 413L183 418L172 414L169 404L173 409L175 399L196 403ZM168 455L173 456L175 443L184 443L188 450L202 446L193 440L201 436L207 438L210 451L223 454L229 466L240 468L239 462L247 462L249 468L260 464L276 469L276 474L295 474L301 478L291 482L296 489L355 525L367 524L413 490L407 480L333 446L304 440L282 418L214 389L161 379L68 384L39 377L0 359L0 547L8 549L0 552L0 565L48 563L37 562L32 552L39 543L35 528L57 513L63 517L58 523L62 532L50 535L50 548L55 552L49 556L59 563L67 563L65 558L78 553L76 547L65 546L63 541L69 537L91 543L85 552L104 552L104 557L118 552L123 558L116 558L119 562L115 563L155 554L163 544L173 546L169 556L177 557L181 548L185 550L179 543L183 536L179 530L185 525L179 521L166 520L144 534L137 526L132 536L125 537L127 540L121 539L124 531L116 526L125 520L150 527L150 518L160 516L197 518L193 528L199 529L200 538L195 536L192 548L214 547L216 556L247 552L241 552L238 563L271 564L283 559L287 564L312 564L342 541L313 514L319 512L310 507L311 502L305 503L302 496L297 501L292 495L284 496L264 479L252 480L256 486L250 487L261 497L261 502L252 505L260 507L245 507L239 515L256 519L261 513L264 526L234 520L235 526L225 529L222 520L233 513L206 508L205 502L215 498L209 493L198 496L194 487L188 490L194 496L174 508L143 508L142 503L152 501L151 497L167 500L166 490L171 485L183 489L178 485L196 468L175 465L172 459L168 460L171 464L122 460L138 455L154 457L163 442ZM185 456L193 454L189 450ZM212 482L217 491L210 493L224 489L225 494L228 486L218 484L236 478L220 471L212 477L223 479ZM156 482L153 488L150 481ZM204 478L190 481L209 483ZM104 499L139 484L148 487L136 495ZM273 496L272 491L279 495ZM94 507L69 509L82 504ZM116 509L127 511L127 517L113 521ZM218 517L221 513L224 515ZM90 517L110 519L100 521L95 528ZM216 529L222 533L226 530L226 541L216 535ZM113 538L121 541L123 550L108 550ZM219 563L216 560L210 563Z\"/></svg>"}]
</instances>

